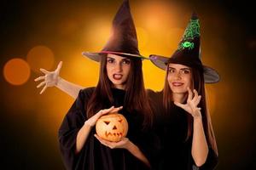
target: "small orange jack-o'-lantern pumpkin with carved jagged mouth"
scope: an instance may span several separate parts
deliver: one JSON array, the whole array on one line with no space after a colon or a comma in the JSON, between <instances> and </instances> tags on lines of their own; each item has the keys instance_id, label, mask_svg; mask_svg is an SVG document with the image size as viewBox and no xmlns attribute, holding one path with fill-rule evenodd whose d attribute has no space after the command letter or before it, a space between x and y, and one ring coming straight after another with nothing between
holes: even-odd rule
<instances>
[{"instance_id":1,"label":"small orange jack-o'-lantern pumpkin with carved jagged mouth","mask_svg":"<svg viewBox=\"0 0 256 170\"><path fill-rule=\"evenodd\" d=\"M101 116L96 122L96 133L102 138L112 142L118 142L126 136L128 122L125 116L112 113Z\"/></svg>"}]
</instances>

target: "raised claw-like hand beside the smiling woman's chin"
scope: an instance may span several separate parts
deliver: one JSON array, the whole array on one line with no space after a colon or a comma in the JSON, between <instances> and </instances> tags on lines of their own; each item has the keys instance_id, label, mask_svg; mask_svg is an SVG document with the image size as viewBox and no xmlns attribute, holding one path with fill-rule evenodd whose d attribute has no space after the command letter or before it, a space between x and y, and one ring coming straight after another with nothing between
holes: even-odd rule
<instances>
[{"instance_id":1,"label":"raised claw-like hand beside the smiling woman's chin","mask_svg":"<svg viewBox=\"0 0 256 170\"><path fill-rule=\"evenodd\" d=\"M189 112L189 114L194 118L201 117L201 108L197 107L197 105L200 103L201 95L198 95L195 89L193 90L194 97L190 88L188 88L188 92L189 92L189 96L186 104L181 104L178 102L174 102L174 104L177 105L178 107L183 108L183 110Z\"/></svg>"}]
</instances>

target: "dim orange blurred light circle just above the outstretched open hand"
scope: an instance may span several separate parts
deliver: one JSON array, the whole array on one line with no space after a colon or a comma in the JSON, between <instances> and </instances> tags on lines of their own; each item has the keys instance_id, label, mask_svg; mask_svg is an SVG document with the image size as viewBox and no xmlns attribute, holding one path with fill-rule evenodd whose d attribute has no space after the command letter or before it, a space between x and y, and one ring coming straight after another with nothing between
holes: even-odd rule
<instances>
[{"instance_id":1,"label":"dim orange blurred light circle just above the outstretched open hand","mask_svg":"<svg viewBox=\"0 0 256 170\"><path fill-rule=\"evenodd\" d=\"M40 68L50 70L54 65L55 56L50 48L37 46L28 52L26 60L32 71L39 72Z\"/></svg>"}]
</instances>

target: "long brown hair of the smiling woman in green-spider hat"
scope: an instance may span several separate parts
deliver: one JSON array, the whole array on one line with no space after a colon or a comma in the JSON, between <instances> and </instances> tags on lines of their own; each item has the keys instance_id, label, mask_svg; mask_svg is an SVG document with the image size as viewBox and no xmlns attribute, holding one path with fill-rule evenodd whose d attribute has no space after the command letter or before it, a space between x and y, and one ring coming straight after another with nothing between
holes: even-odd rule
<instances>
[{"instance_id":1,"label":"long brown hair of the smiling woman in green-spider hat","mask_svg":"<svg viewBox=\"0 0 256 170\"><path fill-rule=\"evenodd\" d=\"M202 116L204 131L206 134L207 144L210 144L210 146L212 147L212 150L214 150L215 154L218 156L218 149L217 149L215 136L213 133L211 116L209 114L209 111L207 110L207 101L206 101L207 98L206 98L206 89L205 89L203 73L202 71L199 71L199 69L196 69L193 67L191 67L191 71L192 71L193 88L198 92L199 95L201 95L201 101L198 107L201 107L201 116ZM172 100L172 90L169 87L167 77L168 77L168 69L166 69L165 86L163 89L163 105L165 106L166 110L172 108L172 106L174 105ZM188 114L187 119L188 119L187 139L189 139L193 133L193 117L189 116Z\"/></svg>"}]
</instances>

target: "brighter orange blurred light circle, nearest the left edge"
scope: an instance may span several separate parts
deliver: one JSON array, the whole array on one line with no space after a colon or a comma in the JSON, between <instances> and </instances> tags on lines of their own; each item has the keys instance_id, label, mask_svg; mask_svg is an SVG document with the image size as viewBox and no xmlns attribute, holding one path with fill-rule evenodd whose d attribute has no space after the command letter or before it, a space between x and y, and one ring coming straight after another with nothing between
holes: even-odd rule
<instances>
[{"instance_id":1,"label":"brighter orange blurred light circle, nearest the left edge","mask_svg":"<svg viewBox=\"0 0 256 170\"><path fill-rule=\"evenodd\" d=\"M10 59L3 67L3 77L12 85L24 84L30 77L30 67L24 59Z\"/></svg>"}]
</instances>

